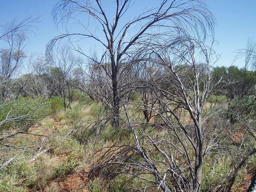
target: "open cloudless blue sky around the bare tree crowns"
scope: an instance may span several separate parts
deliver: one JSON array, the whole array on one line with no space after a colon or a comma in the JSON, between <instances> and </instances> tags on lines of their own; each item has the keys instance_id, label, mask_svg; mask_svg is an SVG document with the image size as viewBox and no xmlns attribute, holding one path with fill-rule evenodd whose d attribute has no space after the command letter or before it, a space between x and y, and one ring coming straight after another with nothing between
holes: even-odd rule
<instances>
[{"instance_id":1,"label":"open cloudless blue sky around the bare tree crowns","mask_svg":"<svg viewBox=\"0 0 256 192\"><path fill-rule=\"evenodd\" d=\"M107 8L112 0L105 0ZM154 4L158 0L137 0L138 6L145 6L144 2ZM160 1L160 0L159 0ZM27 47L31 54L44 53L45 46L51 38L61 33L54 26L51 11L58 0L0 0L0 23L13 18L20 20L33 16L40 18L34 34L29 34L30 43ZM215 46L218 54L222 54L218 65L228 66L234 59L234 50L246 48L248 38L256 38L256 0L206 0L210 11L217 19L215 39L219 42ZM156 3L157 4L157 3ZM138 10L132 10L135 15ZM87 47L93 47L93 44Z\"/></svg>"}]
</instances>

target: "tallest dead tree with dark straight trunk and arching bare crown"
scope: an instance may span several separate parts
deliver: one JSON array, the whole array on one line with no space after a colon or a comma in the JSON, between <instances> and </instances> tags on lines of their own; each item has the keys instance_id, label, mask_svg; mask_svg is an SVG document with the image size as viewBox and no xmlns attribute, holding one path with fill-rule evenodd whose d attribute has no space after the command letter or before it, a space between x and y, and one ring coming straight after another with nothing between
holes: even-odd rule
<instances>
[{"instance_id":1,"label":"tallest dead tree with dark straight trunk and arching bare crown","mask_svg":"<svg viewBox=\"0 0 256 192\"><path fill-rule=\"evenodd\" d=\"M99 61L98 64L110 63L111 65L108 76L112 81L113 125L116 128L119 128L120 125L119 81L122 76L119 74L122 70L122 63L126 63L126 58L130 57L142 42L150 41L149 34L153 33L155 36L164 37L166 33L172 34L178 31L180 34L184 34L190 31L192 34L205 37L207 28L212 29L214 24L214 17L200 0L163 0L159 6L149 8L131 19L125 19L125 17L129 17L128 11L133 6L136 6L136 3L133 4L130 0L116 0L115 6L112 6L113 10L107 12L104 3L100 0L61 0L53 10L56 23L66 24L69 20L75 20L83 28L83 32L56 36L47 46L47 50L50 52L59 40L69 38L71 41L71 38L76 36L81 40L90 38L105 49L102 56L105 61ZM111 13L114 17L113 21ZM84 19L80 19L80 15L83 14L88 16L94 24L96 23L96 26L101 29L100 33L93 32L95 25L92 26L91 22L84 22ZM80 46L74 45L74 49L90 58Z\"/></svg>"}]
</instances>

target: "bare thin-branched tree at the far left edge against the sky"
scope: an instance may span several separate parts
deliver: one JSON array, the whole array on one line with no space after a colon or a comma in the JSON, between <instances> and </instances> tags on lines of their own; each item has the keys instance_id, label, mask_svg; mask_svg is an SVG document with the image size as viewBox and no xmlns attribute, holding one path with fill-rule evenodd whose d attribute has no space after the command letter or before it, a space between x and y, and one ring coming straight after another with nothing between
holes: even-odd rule
<instances>
[{"instance_id":1,"label":"bare thin-branched tree at the far left edge against the sky","mask_svg":"<svg viewBox=\"0 0 256 192\"><path fill-rule=\"evenodd\" d=\"M10 98L17 92L15 79L25 57L26 32L29 32L37 18L26 18L21 22L12 20L0 26L0 91L1 100Z\"/></svg>"}]
</instances>

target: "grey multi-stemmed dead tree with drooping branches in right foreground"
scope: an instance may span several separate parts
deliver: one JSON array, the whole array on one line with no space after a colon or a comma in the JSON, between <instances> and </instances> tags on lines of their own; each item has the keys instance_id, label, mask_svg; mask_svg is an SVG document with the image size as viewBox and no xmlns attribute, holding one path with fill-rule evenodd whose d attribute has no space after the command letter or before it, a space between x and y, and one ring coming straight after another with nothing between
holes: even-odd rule
<instances>
[{"instance_id":1,"label":"grey multi-stemmed dead tree with drooping branches in right foreground","mask_svg":"<svg viewBox=\"0 0 256 192\"><path fill-rule=\"evenodd\" d=\"M130 111L145 110L146 104L123 102L126 114L123 121L133 135L134 145L110 147L112 158L108 156L106 162L99 163L91 173L104 168L110 172L110 166L111 172L131 174L165 192L198 192L202 184L204 156L211 148L205 124L219 110L211 108L207 115L204 114L214 86L211 83L214 51L212 46L207 47L188 36L172 37L168 42L157 38L155 43L145 44L142 50L148 52L144 60L159 66L158 71L148 68L150 77L157 73L158 78L148 78L144 82L147 86L142 87L154 92L157 105L148 105L147 110L156 114L156 118L154 122L133 122ZM204 68L198 67L199 55ZM160 155L161 160L157 160L155 154ZM113 168L113 164L117 166ZM148 179L144 173L152 174L154 179ZM150 184L145 188L150 188Z\"/></svg>"}]
</instances>

